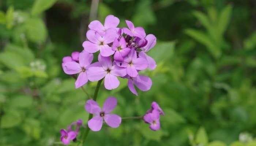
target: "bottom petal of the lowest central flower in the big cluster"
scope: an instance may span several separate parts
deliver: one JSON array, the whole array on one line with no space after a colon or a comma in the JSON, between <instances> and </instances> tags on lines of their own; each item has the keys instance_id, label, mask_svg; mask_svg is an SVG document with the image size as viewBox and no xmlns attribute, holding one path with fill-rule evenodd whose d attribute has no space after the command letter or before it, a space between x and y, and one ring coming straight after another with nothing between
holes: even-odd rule
<instances>
[{"instance_id":1,"label":"bottom petal of the lowest central flower in the big cluster","mask_svg":"<svg viewBox=\"0 0 256 146\"><path fill-rule=\"evenodd\" d=\"M108 90L115 89L119 86L119 84L120 84L120 82L116 76L113 76L110 73L108 73L105 76L104 86L106 89L108 89Z\"/></svg>"}]
</instances>

